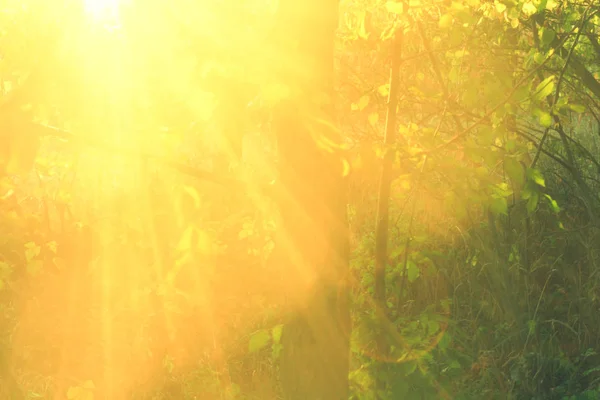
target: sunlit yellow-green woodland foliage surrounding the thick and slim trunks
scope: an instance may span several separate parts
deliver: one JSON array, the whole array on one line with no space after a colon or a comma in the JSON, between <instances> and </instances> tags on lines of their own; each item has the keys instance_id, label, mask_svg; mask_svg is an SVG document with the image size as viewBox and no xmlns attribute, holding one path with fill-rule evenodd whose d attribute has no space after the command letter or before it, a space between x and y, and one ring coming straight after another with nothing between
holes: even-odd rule
<instances>
[{"instance_id":1,"label":"sunlit yellow-green woodland foliage surrounding the thick and slim trunks","mask_svg":"<svg viewBox=\"0 0 600 400\"><path fill-rule=\"evenodd\" d=\"M5 3L0 388L277 398L298 282L277 261L271 116L293 94L280 64L301 74L303 60L274 50L276 2L133 1L93 23L76 2ZM351 398L599 396L599 13L591 0L340 2Z\"/></svg>"}]
</instances>

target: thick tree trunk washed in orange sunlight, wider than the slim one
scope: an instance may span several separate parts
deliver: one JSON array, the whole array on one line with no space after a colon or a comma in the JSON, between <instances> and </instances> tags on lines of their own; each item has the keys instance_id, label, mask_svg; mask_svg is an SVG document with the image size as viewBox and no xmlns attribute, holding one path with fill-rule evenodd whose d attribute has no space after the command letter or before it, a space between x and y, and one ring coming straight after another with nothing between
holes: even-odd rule
<instances>
[{"instance_id":1,"label":"thick tree trunk washed in orange sunlight, wider than the slim one","mask_svg":"<svg viewBox=\"0 0 600 400\"><path fill-rule=\"evenodd\" d=\"M336 0L281 1L282 80L273 115L281 196L279 254L290 282L280 378L287 400L348 398L348 232L333 123Z\"/></svg>"}]
</instances>

